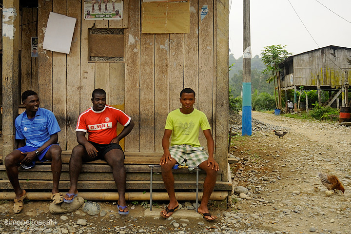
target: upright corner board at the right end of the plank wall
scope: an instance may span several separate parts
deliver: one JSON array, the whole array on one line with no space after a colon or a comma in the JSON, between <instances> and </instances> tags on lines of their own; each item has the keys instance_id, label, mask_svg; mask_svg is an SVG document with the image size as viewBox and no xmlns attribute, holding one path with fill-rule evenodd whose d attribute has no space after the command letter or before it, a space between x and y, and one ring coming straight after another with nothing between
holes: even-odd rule
<instances>
[{"instance_id":1,"label":"upright corner board at the right end of the plank wall","mask_svg":"<svg viewBox=\"0 0 351 234\"><path fill-rule=\"evenodd\" d=\"M228 43L229 2L216 1L216 110L215 110L215 160L222 171L222 181L228 181Z\"/></svg>"}]
</instances>

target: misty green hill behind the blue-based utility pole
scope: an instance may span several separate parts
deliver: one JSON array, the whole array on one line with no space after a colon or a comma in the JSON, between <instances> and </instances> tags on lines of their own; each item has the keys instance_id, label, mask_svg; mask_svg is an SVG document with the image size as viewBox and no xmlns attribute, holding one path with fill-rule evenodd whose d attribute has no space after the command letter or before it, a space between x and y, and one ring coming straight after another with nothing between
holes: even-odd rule
<instances>
[{"instance_id":1,"label":"misty green hill behind the blue-based utility pole","mask_svg":"<svg viewBox=\"0 0 351 234\"><path fill-rule=\"evenodd\" d=\"M235 59L233 54L229 55L229 65L234 65L229 71L229 86L232 90L232 95L234 98L241 96L241 85L242 85L242 56L238 59ZM273 95L274 93L274 84L266 82L266 79L269 77L267 74L262 74L262 71L265 69L261 58L256 55L251 59L251 90L252 93L254 89L257 89L259 93L269 93Z\"/></svg>"}]
</instances>

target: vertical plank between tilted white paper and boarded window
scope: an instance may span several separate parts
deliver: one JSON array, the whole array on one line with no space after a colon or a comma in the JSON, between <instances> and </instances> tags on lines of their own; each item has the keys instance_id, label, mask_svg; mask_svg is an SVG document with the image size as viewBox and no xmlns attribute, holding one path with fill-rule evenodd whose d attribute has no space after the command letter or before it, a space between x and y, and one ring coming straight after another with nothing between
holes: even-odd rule
<instances>
[{"instance_id":1,"label":"vertical plank between tilted white paper and boarded window","mask_svg":"<svg viewBox=\"0 0 351 234\"><path fill-rule=\"evenodd\" d=\"M84 4L82 4L84 12ZM81 38L80 38L80 113L92 106L91 98L95 88L95 63L89 63L88 59L88 33L89 28L95 24L94 20L84 20L81 14Z\"/></svg>"}]
</instances>

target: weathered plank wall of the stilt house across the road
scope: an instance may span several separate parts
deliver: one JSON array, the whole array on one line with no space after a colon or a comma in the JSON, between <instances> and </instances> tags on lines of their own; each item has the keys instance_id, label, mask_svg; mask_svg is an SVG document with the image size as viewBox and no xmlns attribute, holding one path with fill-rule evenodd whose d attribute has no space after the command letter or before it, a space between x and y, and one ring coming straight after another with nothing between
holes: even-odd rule
<instances>
[{"instance_id":1,"label":"weathered plank wall of the stilt house across the road","mask_svg":"<svg viewBox=\"0 0 351 234\"><path fill-rule=\"evenodd\" d=\"M349 67L347 58L351 56L351 48L326 46L293 56L292 63L284 67L285 77L281 81L282 88L293 86L315 86L319 76L323 87L340 88L345 82L345 69ZM291 83L291 74L293 82ZM347 77L351 82L351 74Z\"/></svg>"}]
</instances>

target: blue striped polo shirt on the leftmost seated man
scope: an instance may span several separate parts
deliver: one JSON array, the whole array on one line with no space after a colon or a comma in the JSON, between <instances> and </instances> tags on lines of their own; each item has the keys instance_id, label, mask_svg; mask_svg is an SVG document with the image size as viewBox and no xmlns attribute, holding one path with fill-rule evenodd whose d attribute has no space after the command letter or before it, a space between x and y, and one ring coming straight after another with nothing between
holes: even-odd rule
<instances>
[{"instance_id":1,"label":"blue striped polo shirt on the leftmost seated man","mask_svg":"<svg viewBox=\"0 0 351 234\"><path fill-rule=\"evenodd\" d=\"M20 114L15 120L16 139L25 139L26 146L39 148L50 136L61 131L54 114L46 109L39 108L34 118L27 117L27 111Z\"/></svg>"}]
</instances>

